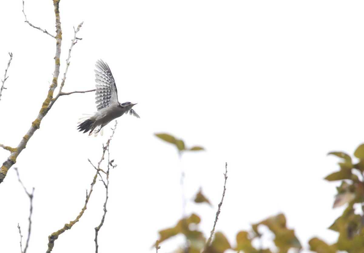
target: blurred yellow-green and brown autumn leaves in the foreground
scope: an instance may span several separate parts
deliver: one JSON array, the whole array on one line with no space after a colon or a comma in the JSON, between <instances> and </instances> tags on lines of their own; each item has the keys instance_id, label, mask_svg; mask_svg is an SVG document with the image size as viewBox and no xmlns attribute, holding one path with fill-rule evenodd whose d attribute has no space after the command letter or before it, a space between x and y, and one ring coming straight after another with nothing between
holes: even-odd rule
<instances>
[{"instance_id":1,"label":"blurred yellow-green and brown autumn leaves in the foreground","mask_svg":"<svg viewBox=\"0 0 364 253\"><path fill-rule=\"evenodd\" d=\"M174 144L179 152L184 150L201 150L196 146L191 149L186 149L182 140L178 140L169 134L155 134L164 141ZM339 233L337 242L332 245L327 244L323 240L316 237L312 238L308 244L312 252L317 253L335 253L343 251L348 253L363 253L364 252L364 144L360 145L354 152L354 156L358 159L357 163L353 163L350 155L343 152L331 152L330 155L335 155L341 158L339 162L340 170L336 171L325 179L327 181L341 181L337 188L337 195L333 203L333 208L348 204L343 214L338 217L329 229ZM200 189L195 198L195 203L208 203L209 200L202 194ZM354 204L357 204L355 209ZM211 204L210 204L211 205ZM358 214L361 213L361 214ZM236 246L231 246L222 232L214 233L213 240L210 245L206 245L206 237L198 230L198 224L201 218L192 214L188 218L183 218L177 222L172 228L167 228L159 231L159 240L156 246L162 241L171 237L182 234L186 239L186 247L179 249L176 252L185 253L223 253L226 250L234 250L235 252L245 253L287 253L300 252L302 249L300 241L294 234L293 229L286 227L286 217L280 213L276 216L269 217L259 223L253 224L250 231L240 231L236 236ZM211 221L212 224L212 221ZM275 249L253 245L264 245L262 234L259 231L260 226L265 226L273 234L273 242ZM313 231L314 232L314 231ZM258 243L253 241L258 240Z\"/></svg>"}]
</instances>

